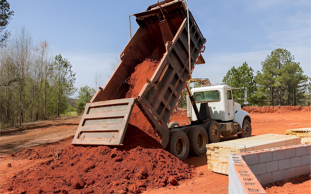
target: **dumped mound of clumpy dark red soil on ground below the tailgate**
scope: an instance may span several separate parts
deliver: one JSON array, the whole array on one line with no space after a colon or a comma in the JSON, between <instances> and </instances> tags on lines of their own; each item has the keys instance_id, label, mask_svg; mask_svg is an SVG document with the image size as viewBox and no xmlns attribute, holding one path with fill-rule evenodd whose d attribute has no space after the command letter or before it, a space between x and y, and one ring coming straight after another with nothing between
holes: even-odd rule
<instances>
[{"instance_id":1,"label":"dumped mound of clumpy dark red soil on ground below the tailgate","mask_svg":"<svg viewBox=\"0 0 311 194\"><path fill-rule=\"evenodd\" d=\"M36 156L41 157L44 146ZM26 157L29 151L22 151ZM32 153L34 154L34 153ZM140 193L147 188L176 185L191 178L192 168L163 149L137 147L129 151L74 147L52 151L39 165L3 181L0 192L9 193ZM44 156L42 156L44 157Z\"/></svg>"}]
</instances>

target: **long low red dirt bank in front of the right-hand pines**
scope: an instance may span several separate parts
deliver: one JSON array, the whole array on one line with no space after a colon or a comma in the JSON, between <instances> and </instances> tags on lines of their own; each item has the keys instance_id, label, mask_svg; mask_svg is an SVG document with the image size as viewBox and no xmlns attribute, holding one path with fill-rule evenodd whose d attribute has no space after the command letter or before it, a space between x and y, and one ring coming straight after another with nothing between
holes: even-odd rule
<instances>
[{"instance_id":1,"label":"long low red dirt bank in front of the right-hand pines","mask_svg":"<svg viewBox=\"0 0 311 194\"><path fill-rule=\"evenodd\" d=\"M272 112L290 112L290 111L305 111L310 112L311 106L244 106L244 111L248 113L272 113Z\"/></svg>"}]
</instances>

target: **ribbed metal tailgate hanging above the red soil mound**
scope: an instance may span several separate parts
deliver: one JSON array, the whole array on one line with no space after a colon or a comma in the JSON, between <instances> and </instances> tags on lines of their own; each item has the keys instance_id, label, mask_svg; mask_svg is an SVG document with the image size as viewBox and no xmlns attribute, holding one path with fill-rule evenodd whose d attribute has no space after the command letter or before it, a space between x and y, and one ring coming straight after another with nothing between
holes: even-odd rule
<instances>
[{"instance_id":1,"label":"ribbed metal tailgate hanging above the red soil mound","mask_svg":"<svg viewBox=\"0 0 311 194\"><path fill-rule=\"evenodd\" d=\"M85 106L75 145L120 145L136 98L90 102Z\"/></svg>"}]
</instances>

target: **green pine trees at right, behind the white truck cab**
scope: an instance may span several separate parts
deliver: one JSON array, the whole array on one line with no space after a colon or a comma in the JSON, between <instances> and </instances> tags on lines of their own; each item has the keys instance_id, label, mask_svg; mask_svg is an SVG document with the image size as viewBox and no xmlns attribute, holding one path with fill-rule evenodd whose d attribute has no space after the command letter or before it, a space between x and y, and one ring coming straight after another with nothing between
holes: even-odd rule
<instances>
[{"instance_id":1,"label":"green pine trees at right, behind the white truck cab","mask_svg":"<svg viewBox=\"0 0 311 194\"><path fill-rule=\"evenodd\" d=\"M247 87L248 102L253 106L310 106L310 78L304 75L294 55L278 48L261 65L256 75L246 62L238 68L233 66L222 81L234 88ZM243 96L244 91L234 90L238 102Z\"/></svg>"}]
</instances>

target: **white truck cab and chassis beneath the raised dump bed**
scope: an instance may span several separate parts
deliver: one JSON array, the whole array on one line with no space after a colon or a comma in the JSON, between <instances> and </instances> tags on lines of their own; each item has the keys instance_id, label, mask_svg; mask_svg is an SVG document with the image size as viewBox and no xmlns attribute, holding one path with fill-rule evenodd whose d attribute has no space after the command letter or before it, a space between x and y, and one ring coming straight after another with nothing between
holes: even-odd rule
<instances>
[{"instance_id":1,"label":"white truck cab and chassis beneath the raised dump bed","mask_svg":"<svg viewBox=\"0 0 311 194\"><path fill-rule=\"evenodd\" d=\"M192 79L197 80L197 79ZM203 85L207 82L201 81ZM234 102L232 90L244 89L244 103L247 105L247 88L232 88L226 84L191 88L187 95L187 117L189 125L179 126L178 122L171 121L169 129L183 131L189 139L190 153L194 156L203 156L206 153L206 144L217 143L220 136L239 138L250 137L252 134L251 118L242 106ZM192 100L195 101L195 106ZM196 113L196 109L199 113ZM180 132L178 132L180 133ZM186 150L186 147L184 147ZM185 156L184 156L185 157Z\"/></svg>"}]
</instances>

